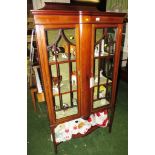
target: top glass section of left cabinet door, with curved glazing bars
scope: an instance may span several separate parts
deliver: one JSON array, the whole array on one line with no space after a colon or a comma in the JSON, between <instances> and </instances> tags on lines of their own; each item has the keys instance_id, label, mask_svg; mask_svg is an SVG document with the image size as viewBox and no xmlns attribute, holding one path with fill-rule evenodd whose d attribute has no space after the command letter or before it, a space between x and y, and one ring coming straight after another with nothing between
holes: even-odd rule
<instances>
[{"instance_id":1,"label":"top glass section of left cabinet door, with curved glazing bars","mask_svg":"<svg viewBox=\"0 0 155 155\"><path fill-rule=\"evenodd\" d=\"M50 62L75 60L75 29L52 29L45 33Z\"/></svg>"}]
</instances>

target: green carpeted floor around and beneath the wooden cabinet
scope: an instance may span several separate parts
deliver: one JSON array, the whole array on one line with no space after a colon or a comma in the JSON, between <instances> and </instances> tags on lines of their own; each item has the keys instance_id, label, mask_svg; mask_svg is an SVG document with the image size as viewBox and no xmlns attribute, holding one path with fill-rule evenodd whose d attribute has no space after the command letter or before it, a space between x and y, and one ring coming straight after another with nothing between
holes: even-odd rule
<instances>
[{"instance_id":1,"label":"green carpeted floor around and beneath the wooden cabinet","mask_svg":"<svg viewBox=\"0 0 155 155\"><path fill-rule=\"evenodd\" d=\"M54 155L50 140L45 103L33 111L31 95L27 95L27 154ZM98 128L88 136L72 139L58 146L57 155L127 155L128 154L128 85L120 81L112 133Z\"/></svg>"}]
</instances>

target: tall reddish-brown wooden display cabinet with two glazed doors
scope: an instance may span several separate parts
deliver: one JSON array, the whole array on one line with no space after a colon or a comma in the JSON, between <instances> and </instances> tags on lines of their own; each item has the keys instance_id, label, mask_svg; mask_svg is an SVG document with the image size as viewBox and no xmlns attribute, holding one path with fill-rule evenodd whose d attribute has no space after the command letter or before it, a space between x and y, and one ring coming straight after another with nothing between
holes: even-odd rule
<instances>
[{"instance_id":1,"label":"tall reddish-brown wooden display cabinet with two glazed doors","mask_svg":"<svg viewBox=\"0 0 155 155\"><path fill-rule=\"evenodd\" d=\"M51 137L57 145L98 127L111 132L123 13L45 3L32 10Z\"/></svg>"}]
</instances>

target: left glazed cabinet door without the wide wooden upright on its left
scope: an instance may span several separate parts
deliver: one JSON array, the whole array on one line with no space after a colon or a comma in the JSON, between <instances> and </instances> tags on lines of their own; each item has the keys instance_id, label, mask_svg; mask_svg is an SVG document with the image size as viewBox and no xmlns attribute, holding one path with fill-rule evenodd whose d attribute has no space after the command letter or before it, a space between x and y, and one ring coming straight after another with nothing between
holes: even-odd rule
<instances>
[{"instance_id":1,"label":"left glazed cabinet door without the wide wooden upright on its left","mask_svg":"<svg viewBox=\"0 0 155 155\"><path fill-rule=\"evenodd\" d=\"M44 32L55 118L78 117L78 27L46 26Z\"/></svg>"}]
</instances>

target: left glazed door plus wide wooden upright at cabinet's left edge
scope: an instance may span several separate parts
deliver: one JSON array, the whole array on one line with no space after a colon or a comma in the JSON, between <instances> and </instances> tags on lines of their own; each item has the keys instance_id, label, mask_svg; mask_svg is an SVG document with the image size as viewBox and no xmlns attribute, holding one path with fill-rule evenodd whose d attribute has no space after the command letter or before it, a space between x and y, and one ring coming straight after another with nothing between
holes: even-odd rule
<instances>
[{"instance_id":1,"label":"left glazed door plus wide wooden upright at cabinet's left edge","mask_svg":"<svg viewBox=\"0 0 155 155\"><path fill-rule=\"evenodd\" d=\"M46 25L36 26L36 30L51 120L61 122L79 117L79 28L76 25Z\"/></svg>"}]
</instances>

